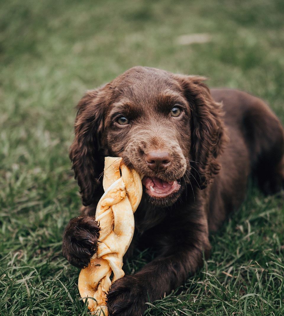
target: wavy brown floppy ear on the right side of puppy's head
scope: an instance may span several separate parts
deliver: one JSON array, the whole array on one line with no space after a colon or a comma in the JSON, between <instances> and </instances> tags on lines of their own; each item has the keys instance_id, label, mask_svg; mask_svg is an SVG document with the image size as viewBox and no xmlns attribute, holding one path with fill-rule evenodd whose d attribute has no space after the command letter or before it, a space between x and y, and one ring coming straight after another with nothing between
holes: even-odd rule
<instances>
[{"instance_id":1,"label":"wavy brown floppy ear on the right side of puppy's head","mask_svg":"<svg viewBox=\"0 0 284 316\"><path fill-rule=\"evenodd\" d=\"M201 189L220 170L216 158L226 143L227 136L222 121L222 106L216 103L209 88L200 76L178 76L181 87L191 106L191 155L192 170Z\"/></svg>"}]
</instances>

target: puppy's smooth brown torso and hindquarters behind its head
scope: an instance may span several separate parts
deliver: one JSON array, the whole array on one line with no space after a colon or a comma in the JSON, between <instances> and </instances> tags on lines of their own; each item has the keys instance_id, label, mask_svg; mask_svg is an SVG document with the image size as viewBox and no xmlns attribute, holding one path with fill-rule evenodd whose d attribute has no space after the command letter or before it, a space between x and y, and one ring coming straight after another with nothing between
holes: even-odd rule
<instances>
[{"instance_id":1,"label":"puppy's smooth brown torso and hindquarters behind its head","mask_svg":"<svg viewBox=\"0 0 284 316\"><path fill-rule=\"evenodd\" d=\"M284 131L261 99L238 90L213 89L211 94L223 104L229 138L210 190L209 227L216 230L220 218L240 206L249 175L265 194L284 187Z\"/></svg>"}]
</instances>

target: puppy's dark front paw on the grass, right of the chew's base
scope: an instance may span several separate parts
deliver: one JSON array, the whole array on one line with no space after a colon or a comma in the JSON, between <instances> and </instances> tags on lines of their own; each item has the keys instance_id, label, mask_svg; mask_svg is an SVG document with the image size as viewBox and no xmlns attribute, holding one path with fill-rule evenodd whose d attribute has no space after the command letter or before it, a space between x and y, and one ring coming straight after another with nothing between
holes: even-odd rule
<instances>
[{"instance_id":1,"label":"puppy's dark front paw on the grass, right of the chew's base","mask_svg":"<svg viewBox=\"0 0 284 316\"><path fill-rule=\"evenodd\" d=\"M107 295L109 316L140 316L148 301L147 284L133 276L115 281Z\"/></svg>"}]
</instances>

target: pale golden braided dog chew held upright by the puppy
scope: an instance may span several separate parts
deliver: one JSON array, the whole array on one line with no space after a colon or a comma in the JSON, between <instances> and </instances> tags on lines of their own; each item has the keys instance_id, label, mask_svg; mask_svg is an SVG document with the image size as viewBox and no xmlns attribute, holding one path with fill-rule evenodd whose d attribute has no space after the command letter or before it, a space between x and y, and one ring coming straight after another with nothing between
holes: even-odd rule
<instances>
[{"instance_id":1,"label":"pale golden braided dog chew held upright by the puppy","mask_svg":"<svg viewBox=\"0 0 284 316\"><path fill-rule=\"evenodd\" d=\"M81 270L78 279L80 295L83 301L89 297L88 308L94 314L100 314L102 310L108 315L106 295L109 287L124 276L122 257L133 237L133 213L142 196L139 174L135 170L129 170L121 161L122 158L105 158L105 193L98 203L95 216L101 228L98 251L91 258L88 267Z\"/></svg>"}]
</instances>

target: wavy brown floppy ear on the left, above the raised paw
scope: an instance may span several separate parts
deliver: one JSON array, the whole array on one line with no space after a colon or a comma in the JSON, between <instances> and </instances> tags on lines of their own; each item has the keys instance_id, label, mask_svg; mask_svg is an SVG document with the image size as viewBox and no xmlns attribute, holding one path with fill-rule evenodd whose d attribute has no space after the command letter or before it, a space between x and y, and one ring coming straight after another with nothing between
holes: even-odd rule
<instances>
[{"instance_id":1,"label":"wavy brown floppy ear on the left, above the raised paw","mask_svg":"<svg viewBox=\"0 0 284 316\"><path fill-rule=\"evenodd\" d=\"M101 185L99 177L104 170L104 157L100 154L104 129L104 98L101 94L101 89L88 91L78 103L75 138L69 152L85 206L94 202L96 190Z\"/></svg>"}]
</instances>

